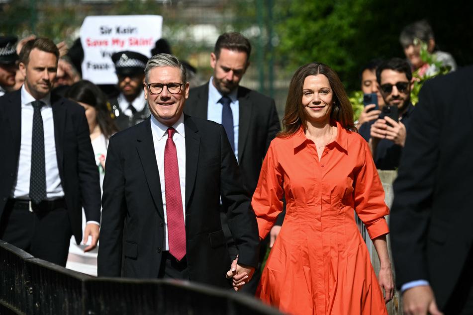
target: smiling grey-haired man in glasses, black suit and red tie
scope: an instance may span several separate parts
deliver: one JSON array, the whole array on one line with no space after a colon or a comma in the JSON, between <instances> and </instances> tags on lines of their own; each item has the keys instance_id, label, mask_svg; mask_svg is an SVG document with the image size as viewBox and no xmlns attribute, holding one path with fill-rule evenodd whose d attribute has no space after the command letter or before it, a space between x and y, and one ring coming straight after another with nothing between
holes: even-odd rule
<instances>
[{"instance_id":1,"label":"smiling grey-haired man in glasses, black suit and red tie","mask_svg":"<svg viewBox=\"0 0 473 315\"><path fill-rule=\"evenodd\" d=\"M152 115L108 146L98 276L120 276L123 269L125 277L231 288L228 271L239 288L257 265L259 236L225 130L183 113L189 83L175 56L152 57L145 73ZM233 272L220 196L239 251Z\"/></svg>"}]
</instances>

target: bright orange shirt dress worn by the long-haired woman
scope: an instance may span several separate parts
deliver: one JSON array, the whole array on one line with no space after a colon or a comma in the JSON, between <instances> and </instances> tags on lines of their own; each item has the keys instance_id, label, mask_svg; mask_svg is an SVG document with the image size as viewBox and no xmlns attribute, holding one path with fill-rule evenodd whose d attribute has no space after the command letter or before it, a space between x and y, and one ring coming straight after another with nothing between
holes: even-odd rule
<instances>
[{"instance_id":1,"label":"bright orange shirt dress worn by the long-haired woman","mask_svg":"<svg viewBox=\"0 0 473 315\"><path fill-rule=\"evenodd\" d=\"M383 294L358 231L354 210L371 238L389 232L389 209L367 142L338 122L319 158L301 128L272 141L252 206L265 238L286 215L256 296L292 315L387 315Z\"/></svg>"}]
</instances>

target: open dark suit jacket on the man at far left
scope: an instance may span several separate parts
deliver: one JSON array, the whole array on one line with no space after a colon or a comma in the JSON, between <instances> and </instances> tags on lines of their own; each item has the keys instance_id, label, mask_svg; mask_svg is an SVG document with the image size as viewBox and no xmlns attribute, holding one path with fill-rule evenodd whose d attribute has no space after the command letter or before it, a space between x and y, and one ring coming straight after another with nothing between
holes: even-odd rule
<instances>
[{"instance_id":1,"label":"open dark suit jacket on the man at far left","mask_svg":"<svg viewBox=\"0 0 473 315\"><path fill-rule=\"evenodd\" d=\"M51 94L59 177L71 228L82 239L82 207L88 221L100 222L100 184L84 108ZM21 90L0 97L0 216L18 168L21 140ZM66 224L69 224L66 223Z\"/></svg>"}]
</instances>

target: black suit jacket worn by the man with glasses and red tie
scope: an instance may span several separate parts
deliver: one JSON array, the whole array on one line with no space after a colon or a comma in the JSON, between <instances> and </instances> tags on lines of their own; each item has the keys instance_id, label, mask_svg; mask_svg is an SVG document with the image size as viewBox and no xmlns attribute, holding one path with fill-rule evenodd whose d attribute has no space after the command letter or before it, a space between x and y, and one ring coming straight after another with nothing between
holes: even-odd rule
<instances>
[{"instance_id":1,"label":"black suit jacket worn by the man with glasses and red tie","mask_svg":"<svg viewBox=\"0 0 473 315\"><path fill-rule=\"evenodd\" d=\"M253 267L259 247L256 218L223 127L187 115L184 126L190 280L229 288L225 273L231 261L220 223L220 194L240 252L238 262ZM165 214L150 118L110 138L102 206L98 275L120 276L123 253L125 277L157 278Z\"/></svg>"}]
</instances>

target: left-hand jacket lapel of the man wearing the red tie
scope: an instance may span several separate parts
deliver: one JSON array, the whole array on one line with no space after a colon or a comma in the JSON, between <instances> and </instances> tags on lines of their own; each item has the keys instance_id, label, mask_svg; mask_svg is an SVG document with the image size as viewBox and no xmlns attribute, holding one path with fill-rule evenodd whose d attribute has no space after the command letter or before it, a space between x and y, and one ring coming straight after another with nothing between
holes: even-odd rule
<instances>
[{"instance_id":1,"label":"left-hand jacket lapel of the man wearing the red tie","mask_svg":"<svg viewBox=\"0 0 473 315\"><path fill-rule=\"evenodd\" d=\"M158 208L159 215L164 219L163 197L161 195L161 183L159 180L156 152L154 151L153 134L151 133L151 119L148 118L143 124L143 132L137 138L136 149L140 157L141 166L146 177L146 182L151 192L151 197Z\"/></svg>"}]
</instances>

